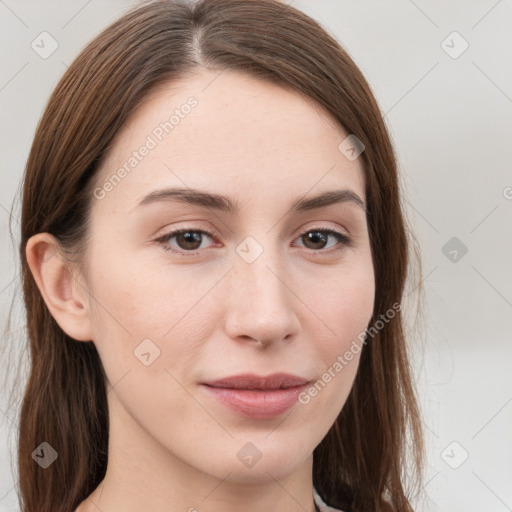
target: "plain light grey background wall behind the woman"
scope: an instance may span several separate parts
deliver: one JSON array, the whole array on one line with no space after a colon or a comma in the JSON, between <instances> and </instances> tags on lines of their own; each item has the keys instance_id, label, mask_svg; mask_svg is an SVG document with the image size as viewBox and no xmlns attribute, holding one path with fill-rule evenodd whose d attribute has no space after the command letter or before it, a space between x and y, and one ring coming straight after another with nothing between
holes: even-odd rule
<instances>
[{"instance_id":1,"label":"plain light grey background wall behind the woman","mask_svg":"<svg viewBox=\"0 0 512 512\"><path fill-rule=\"evenodd\" d=\"M291 3L320 21L364 72L399 158L426 299L410 341L429 455L427 499L417 510L512 510L512 2ZM3 345L24 341L9 211L36 124L79 50L131 5L0 0L2 326L15 304ZM58 44L46 58L31 46L44 37L51 49L42 32ZM18 218L16 201L16 242ZM416 284L408 285L411 297ZM3 357L2 377L12 369ZM17 411L7 409L5 395L0 512L18 510L10 455Z\"/></svg>"}]
</instances>

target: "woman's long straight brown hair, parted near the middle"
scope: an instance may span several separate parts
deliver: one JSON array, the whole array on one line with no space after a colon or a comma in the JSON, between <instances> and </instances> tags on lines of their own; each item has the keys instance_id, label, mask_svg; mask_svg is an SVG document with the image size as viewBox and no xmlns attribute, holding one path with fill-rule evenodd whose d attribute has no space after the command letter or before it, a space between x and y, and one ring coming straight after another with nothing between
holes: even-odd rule
<instances>
[{"instance_id":1,"label":"woman's long straight brown hair, parted near the middle","mask_svg":"<svg viewBox=\"0 0 512 512\"><path fill-rule=\"evenodd\" d=\"M339 43L276 0L138 6L89 43L65 72L25 169L19 250L30 374L19 425L23 512L74 511L105 475L109 431L106 379L95 345L68 337L50 314L27 264L27 241L51 233L79 260L93 177L116 134L155 87L201 66L292 88L364 144L376 276L371 324L402 301L410 242L395 155L372 92ZM398 310L365 344L348 400L314 450L315 488L327 504L345 511L412 510L404 472L421 476L423 440L403 323ZM42 442L58 447L47 469L32 458Z\"/></svg>"}]
</instances>

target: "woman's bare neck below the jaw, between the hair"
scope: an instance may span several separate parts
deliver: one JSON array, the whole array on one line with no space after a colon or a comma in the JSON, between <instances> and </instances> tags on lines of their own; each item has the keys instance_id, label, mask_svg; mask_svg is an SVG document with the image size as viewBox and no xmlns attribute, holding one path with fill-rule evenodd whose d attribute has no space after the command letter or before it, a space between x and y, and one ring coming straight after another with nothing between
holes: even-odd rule
<instances>
[{"instance_id":1,"label":"woman's bare neck below the jaw, between the hair","mask_svg":"<svg viewBox=\"0 0 512 512\"><path fill-rule=\"evenodd\" d=\"M174 456L120 404L110 405L107 472L76 512L315 512L312 456L279 479L260 471L241 480L235 469L219 478L215 468L208 473Z\"/></svg>"}]
</instances>

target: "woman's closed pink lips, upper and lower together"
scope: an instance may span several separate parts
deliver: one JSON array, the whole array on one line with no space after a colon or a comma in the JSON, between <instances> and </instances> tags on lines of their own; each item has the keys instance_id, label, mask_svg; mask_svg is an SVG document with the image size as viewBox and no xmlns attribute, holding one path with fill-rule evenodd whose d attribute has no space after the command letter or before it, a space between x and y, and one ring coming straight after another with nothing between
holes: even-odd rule
<instances>
[{"instance_id":1,"label":"woman's closed pink lips, upper and lower together","mask_svg":"<svg viewBox=\"0 0 512 512\"><path fill-rule=\"evenodd\" d=\"M283 414L298 400L309 381L296 375L235 375L202 383L205 391L226 407L253 419Z\"/></svg>"}]
</instances>

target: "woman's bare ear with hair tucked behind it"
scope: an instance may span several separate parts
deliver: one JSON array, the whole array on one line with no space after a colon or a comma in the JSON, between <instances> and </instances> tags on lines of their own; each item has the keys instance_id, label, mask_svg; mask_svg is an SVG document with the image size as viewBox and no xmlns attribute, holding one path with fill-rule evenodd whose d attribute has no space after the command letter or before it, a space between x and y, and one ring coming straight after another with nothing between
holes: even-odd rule
<instances>
[{"instance_id":1,"label":"woman's bare ear with hair tucked behind it","mask_svg":"<svg viewBox=\"0 0 512 512\"><path fill-rule=\"evenodd\" d=\"M59 241L38 233L28 240L25 253L39 292L61 329L75 340L91 341L89 295L73 277Z\"/></svg>"}]
</instances>

